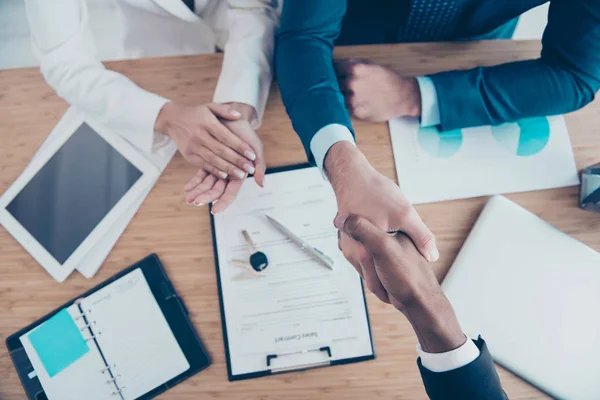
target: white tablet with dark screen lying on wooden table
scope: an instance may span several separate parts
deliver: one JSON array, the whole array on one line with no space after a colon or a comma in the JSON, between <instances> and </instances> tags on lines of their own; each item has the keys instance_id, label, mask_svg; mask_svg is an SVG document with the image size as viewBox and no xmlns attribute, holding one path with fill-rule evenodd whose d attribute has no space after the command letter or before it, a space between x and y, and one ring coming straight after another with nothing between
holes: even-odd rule
<instances>
[{"instance_id":1,"label":"white tablet with dark screen lying on wooden table","mask_svg":"<svg viewBox=\"0 0 600 400\"><path fill-rule=\"evenodd\" d=\"M56 129L56 139L0 197L0 223L62 282L159 170L81 116Z\"/></svg>"}]
</instances>

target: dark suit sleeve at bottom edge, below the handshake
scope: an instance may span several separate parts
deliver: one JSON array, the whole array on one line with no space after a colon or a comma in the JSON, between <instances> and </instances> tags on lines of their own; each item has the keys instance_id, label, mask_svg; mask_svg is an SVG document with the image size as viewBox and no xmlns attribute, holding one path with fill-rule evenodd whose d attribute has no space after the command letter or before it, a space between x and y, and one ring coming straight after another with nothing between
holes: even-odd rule
<instances>
[{"instance_id":1,"label":"dark suit sleeve at bottom edge, below the handshake","mask_svg":"<svg viewBox=\"0 0 600 400\"><path fill-rule=\"evenodd\" d=\"M480 337L473 342L479 357L452 371L432 372L423 367L420 358L417 360L431 400L508 400L485 341Z\"/></svg>"}]
</instances>

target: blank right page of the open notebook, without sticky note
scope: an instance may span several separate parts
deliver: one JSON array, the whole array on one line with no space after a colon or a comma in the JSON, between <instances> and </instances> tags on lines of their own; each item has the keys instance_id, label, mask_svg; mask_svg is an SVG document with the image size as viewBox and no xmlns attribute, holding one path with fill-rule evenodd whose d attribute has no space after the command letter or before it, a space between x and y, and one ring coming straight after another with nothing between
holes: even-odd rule
<instances>
[{"instance_id":1,"label":"blank right page of the open notebook, without sticky note","mask_svg":"<svg viewBox=\"0 0 600 400\"><path fill-rule=\"evenodd\" d=\"M141 269L82 302L96 321L100 349L123 397L136 399L190 367Z\"/></svg>"}]
</instances>

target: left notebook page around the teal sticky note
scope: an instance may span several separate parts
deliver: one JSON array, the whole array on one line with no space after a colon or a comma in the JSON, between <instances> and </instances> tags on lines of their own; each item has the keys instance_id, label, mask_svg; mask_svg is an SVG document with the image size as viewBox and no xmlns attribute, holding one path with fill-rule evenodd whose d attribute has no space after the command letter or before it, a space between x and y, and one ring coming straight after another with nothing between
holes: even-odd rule
<instances>
[{"instance_id":1,"label":"left notebook page around the teal sticky note","mask_svg":"<svg viewBox=\"0 0 600 400\"><path fill-rule=\"evenodd\" d=\"M77 327L84 328L83 320L76 319L80 315L77 306L72 305L67 311ZM39 329L39 327L36 329ZM116 390L115 386L111 383L107 384L107 376L101 372L105 367L104 361L93 341L87 342L89 351L86 354L50 377L29 339L29 335L36 329L21 336L20 340L49 400L118 399L118 397L111 395ZM89 331L84 330L83 337L87 338L89 336Z\"/></svg>"}]
</instances>

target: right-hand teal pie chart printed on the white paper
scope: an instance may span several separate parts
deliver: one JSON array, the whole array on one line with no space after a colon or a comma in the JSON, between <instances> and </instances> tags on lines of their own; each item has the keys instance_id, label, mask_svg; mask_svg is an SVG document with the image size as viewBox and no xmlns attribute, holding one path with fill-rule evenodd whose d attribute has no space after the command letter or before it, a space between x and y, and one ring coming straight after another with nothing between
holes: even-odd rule
<instances>
[{"instance_id":1,"label":"right-hand teal pie chart printed on the white paper","mask_svg":"<svg viewBox=\"0 0 600 400\"><path fill-rule=\"evenodd\" d=\"M519 157L533 156L550 140L550 123L545 117L526 118L515 123L492 126L494 139Z\"/></svg>"}]
</instances>

